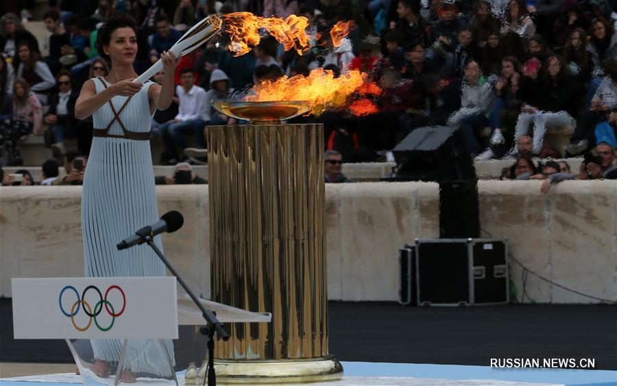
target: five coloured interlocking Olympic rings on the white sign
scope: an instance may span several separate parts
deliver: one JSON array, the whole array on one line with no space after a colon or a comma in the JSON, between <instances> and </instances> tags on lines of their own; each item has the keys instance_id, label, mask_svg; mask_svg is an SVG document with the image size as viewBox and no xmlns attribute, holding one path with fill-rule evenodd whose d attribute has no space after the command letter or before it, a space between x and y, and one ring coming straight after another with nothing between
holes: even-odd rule
<instances>
[{"instance_id":1,"label":"five coloured interlocking Olympic rings on the white sign","mask_svg":"<svg viewBox=\"0 0 617 386\"><path fill-rule=\"evenodd\" d=\"M100 300L95 305L94 310L92 309L92 307L90 307L90 304L86 302L86 292L88 292L88 289L93 289L94 291L97 292L97 294L99 294ZM123 300L122 309L120 309L120 311L118 312L116 312L116 310L114 309L114 306L112 306L112 304L109 303L109 301L107 300L109 292L112 289L117 289L122 295L122 300ZM66 290L73 291L75 293L75 296L77 297L77 300L75 301L75 303L73 303L73 307L71 307L70 313L66 312L66 310L62 306L62 296L64 295L64 292L66 292ZM73 287L73 285L65 285L64 288L62 288L62 291L60 291L60 296L58 296L58 303L60 303L60 311L62 311L62 313L64 313L64 316L66 316L67 318L71 318L71 322L73 323L73 326L75 327L75 329L77 329L77 331L83 332L89 329L93 320L100 331L110 331L110 329L114 326L114 322L116 321L116 318L121 316L124 313L124 309L126 308L126 296L124 295L124 291L122 290L122 288L119 287L118 285L111 285L105 292L105 296L101 294L101 290L95 285L88 285L88 287L86 287L84 291L82 292L81 297L80 297L80 293L77 292L77 289ZM107 313L112 317L111 323L109 324L109 326L106 326L106 327L102 327L97 321L97 316L99 316L101 311L103 311L103 305L105 305L105 309ZM77 315L77 313L80 311L82 306L84 309L84 313L86 313L86 316L90 317L86 326L78 326L77 322L75 322L75 315Z\"/></svg>"}]
</instances>

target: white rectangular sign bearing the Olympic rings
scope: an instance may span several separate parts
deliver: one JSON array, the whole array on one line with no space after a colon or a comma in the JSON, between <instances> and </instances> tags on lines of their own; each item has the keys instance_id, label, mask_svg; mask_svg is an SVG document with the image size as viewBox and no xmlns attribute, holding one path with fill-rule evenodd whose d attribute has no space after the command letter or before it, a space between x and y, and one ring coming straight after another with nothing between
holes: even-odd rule
<instances>
[{"instance_id":1,"label":"white rectangular sign bearing the Olympic rings","mask_svg":"<svg viewBox=\"0 0 617 386\"><path fill-rule=\"evenodd\" d=\"M175 277L12 279L15 339L178 339Z\"/></svg>"}]
</instances>

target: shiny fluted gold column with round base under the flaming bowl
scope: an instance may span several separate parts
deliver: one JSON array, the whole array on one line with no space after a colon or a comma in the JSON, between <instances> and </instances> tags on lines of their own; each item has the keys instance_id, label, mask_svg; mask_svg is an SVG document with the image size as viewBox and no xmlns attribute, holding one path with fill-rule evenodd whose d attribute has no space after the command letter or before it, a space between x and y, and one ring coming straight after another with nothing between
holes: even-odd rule
<instances>
[{"instance_id":1,"label":"shiny fluted gold column with round base under the flaming bowl","mask_svg":"<svg viewBox=\"0 0 617 386\"><path fill-rule=\"evenodd\" d=\"M213 300L271 312L226 326L221 381L341 377L328 356L322 125L212 126L208 192Z\"/></svg>"}]
</instances>

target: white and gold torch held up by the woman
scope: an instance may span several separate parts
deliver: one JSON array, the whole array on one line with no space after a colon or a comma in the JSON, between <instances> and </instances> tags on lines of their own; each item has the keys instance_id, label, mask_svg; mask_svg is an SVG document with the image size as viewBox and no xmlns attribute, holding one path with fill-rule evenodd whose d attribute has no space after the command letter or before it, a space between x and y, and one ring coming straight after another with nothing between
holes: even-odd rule
<instances>
[{"instance_id":1,"label":"white and gold torch held up by the woman","mask_svg":"<svg viewBox=\"0 0 617 386\"><path fill-rule=\"evenodd\" d=\"M184 34L176 44L173 44L169 51L173 52L173 55L178 57L178 55L184 55L197 49L197 47L206 42L206 40L215 36L221 29L222 24L221 18L215 14L204 18L202 21L195 24L193 28L189 29L189 31L186 31L186 34ZM162 60L159 59L134 81L145 83L148 79L153 77L154 74L158 73L162 67Z\"/></svg>"}]
</instances>

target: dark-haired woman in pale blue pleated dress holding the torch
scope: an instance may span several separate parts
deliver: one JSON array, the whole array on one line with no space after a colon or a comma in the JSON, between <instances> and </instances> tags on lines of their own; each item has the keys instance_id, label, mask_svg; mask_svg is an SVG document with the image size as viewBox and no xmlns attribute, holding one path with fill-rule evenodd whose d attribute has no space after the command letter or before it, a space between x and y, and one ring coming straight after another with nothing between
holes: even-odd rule
<instances>
[{"instance_id":1,"label":"dark-haired woman in pale blue pleated dress holding the torch","mask_svg":"<svg viewBox=\"0 0 617 386\"><path fill-rule=\"evenodd\" d=\"M178 59L164 52L162 86L132 81L137 74L134 20L117 13L99 29L99 54L111 59L107 77L89 79L75 103L75 118L93 116L94 138L82 193L82 232L86 276L164 276L165 266L149 246L119 251L116 244L127 235L158 220L149 131L154 110L165 110L173 97L173 73ZM161 247L160 237L156 244ZM107 376L110 363L119 360L121 342L92 341L95 363L91 370ZM171 341L163 345L169 352ZM171 375L158 341L131 341L122 381L135 374ZM173 360L173 359L172 359Z\"/></svg>"}]
</instances>

